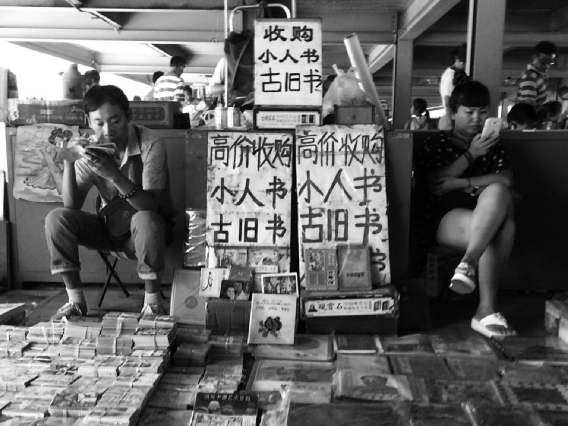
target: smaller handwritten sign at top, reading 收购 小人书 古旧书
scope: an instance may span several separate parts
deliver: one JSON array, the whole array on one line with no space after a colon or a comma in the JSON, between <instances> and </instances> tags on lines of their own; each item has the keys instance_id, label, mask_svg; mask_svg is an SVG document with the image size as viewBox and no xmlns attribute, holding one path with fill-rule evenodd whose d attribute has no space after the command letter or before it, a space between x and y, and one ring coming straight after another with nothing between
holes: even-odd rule
<instances>
[{"instance_id":1,"label":"smaller handwritten sign at top, reading \u6536\u8d2d \u5c0f\u4eba\u4e66 \u53e4\u65e7\u4e66","mask_svg":"<svg viewBox=\"0 0 568 426\"><path fill-rule=\"evenodd\" d=\"M321 107L321 19L254 20L254 105Z\"/></svg>"}]
</instances>

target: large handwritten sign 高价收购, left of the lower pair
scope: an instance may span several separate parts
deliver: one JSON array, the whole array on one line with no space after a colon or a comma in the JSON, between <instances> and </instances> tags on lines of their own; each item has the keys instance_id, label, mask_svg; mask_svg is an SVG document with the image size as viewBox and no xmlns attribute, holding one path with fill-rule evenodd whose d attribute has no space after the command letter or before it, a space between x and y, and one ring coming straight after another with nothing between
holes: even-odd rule
<instances>
[{"instance_id":1,"label":"large handwritten sign \u9ad8\u4ef7\u6536\u8d2d, left of the lower pair","mask_svg":"<svg viewBox=\"0 0 568 426\"><path fill-rule=\"evenodd\" d=\"M209 133L209 247L290 247L293 149L290 133Z\"/></svg>"}]
</instances>

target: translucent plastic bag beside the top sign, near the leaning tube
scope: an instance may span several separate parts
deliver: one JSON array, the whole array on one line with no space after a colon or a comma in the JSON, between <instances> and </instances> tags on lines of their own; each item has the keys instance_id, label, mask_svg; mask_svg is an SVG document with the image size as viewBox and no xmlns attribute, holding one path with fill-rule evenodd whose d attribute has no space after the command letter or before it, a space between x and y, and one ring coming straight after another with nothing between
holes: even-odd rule
<instances>
[{"instance_id":1,"label":"translucent plastic bag beside the top sign, near the leaning tube","mask_svg":"<svg viewBox=\"0 0 568 426\"><path fill-rule=\"evenodd\" d=\"M367 101L365 91L361 89L360 80L357 78L356 68L353 66L343 72L333 64L333 69L337 77L329 86L329 90L323 98L323 114L325 116L333 114L335 105L343 106L364 106L370 105Z\"/></svg>"}]
</instances>

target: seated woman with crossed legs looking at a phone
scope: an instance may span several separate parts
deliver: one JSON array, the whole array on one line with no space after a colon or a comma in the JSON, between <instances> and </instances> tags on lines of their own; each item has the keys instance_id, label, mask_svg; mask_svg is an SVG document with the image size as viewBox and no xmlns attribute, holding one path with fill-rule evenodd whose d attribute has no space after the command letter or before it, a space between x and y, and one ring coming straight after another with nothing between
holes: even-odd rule
<instances>
[{"instance_id":1,"label":"seated woman with crossed legs looking at a phone","mask_svg":"<svg viewBox=\"0 0 568 426\"><path fill-rule=\"evenodd\" d=\"M512 173L498 138L481 136L489 91L477 81L457 86L449 101L454 129L424 141L421 158L429 178L429 242L465 250L450 289L471 293L479 306L471 328L484 336L516 331L497 310L496 294L515 236Z\"/></svg>"}]
</instances>

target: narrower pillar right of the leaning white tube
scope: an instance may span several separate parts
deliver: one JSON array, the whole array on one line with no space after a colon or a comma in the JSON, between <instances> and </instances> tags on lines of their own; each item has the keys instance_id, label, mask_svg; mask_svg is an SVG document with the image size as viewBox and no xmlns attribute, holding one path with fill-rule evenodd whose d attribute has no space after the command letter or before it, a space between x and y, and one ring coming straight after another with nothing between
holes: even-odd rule
<instances>
[{"instance_id":1,"label":"narrower pillar right of the leaning white tube","mask_svg":"<svg viewBox=\"0 0 568 426\"><path fill-rule=\"evenodd\" d=\"M398 40L394 57L392 113L395 129L403 129L412 105L412 48L414 40Z\"/></svg>"}]
</instances>

